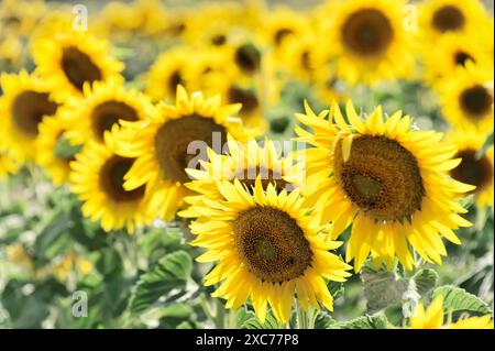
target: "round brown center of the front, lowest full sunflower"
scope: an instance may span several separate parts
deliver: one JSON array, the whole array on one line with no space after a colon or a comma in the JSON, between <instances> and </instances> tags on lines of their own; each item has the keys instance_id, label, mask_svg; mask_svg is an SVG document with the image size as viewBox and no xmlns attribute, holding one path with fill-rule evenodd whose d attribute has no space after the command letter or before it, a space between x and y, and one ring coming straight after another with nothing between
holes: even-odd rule
<instances>
[{"instance_id":1,"label":"round brown center of the front, lowest full sunflower","mask_svg":"<svg viewBox=\"0 0 495 351\"><path fill-rule=\"evenodd\" d=\"M279 209L253 207L241 211L233 232L242 261L263 282L292 281L311 265L312 252L302 229Z\"/></svg>"}]
</instances>

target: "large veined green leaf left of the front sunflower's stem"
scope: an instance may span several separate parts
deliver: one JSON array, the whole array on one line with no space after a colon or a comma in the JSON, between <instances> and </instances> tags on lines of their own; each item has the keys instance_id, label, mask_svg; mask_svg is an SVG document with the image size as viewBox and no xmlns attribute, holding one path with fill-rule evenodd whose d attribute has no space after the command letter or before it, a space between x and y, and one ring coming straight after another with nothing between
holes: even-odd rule
<instances>
[{"instance_id":1,"label":"large veined green leaf left of the front sunflower's stem","mask_svg":"<svg viewBox=\"0 0 495 351\"><path fill-rule=\"evenodd\" d=\"M186 293L186 283L193 270L193 260L185 251L176 251L144 273L131 297L131 314L139 314L155 303L174 301Z\"/></svg>"}]
</instances>

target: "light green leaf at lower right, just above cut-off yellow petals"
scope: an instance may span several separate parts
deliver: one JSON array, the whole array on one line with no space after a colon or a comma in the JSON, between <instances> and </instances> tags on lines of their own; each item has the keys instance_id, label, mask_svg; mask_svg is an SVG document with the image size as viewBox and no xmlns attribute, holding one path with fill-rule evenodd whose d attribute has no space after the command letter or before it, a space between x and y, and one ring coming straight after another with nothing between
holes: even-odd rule
<instances>
[{"instance_id":1,"label":"light green leaf at lower right, just above cut-off yellow petals","mask_svg":"<svg viewBox=\"0 0 495 351\"><path fill-rule=\"evenodd\" d=\"M463 288L444 285L433 290L433 298L443 296L443 309L452 312L492 314L488 304Z\"/></svg>"}]
</instances>

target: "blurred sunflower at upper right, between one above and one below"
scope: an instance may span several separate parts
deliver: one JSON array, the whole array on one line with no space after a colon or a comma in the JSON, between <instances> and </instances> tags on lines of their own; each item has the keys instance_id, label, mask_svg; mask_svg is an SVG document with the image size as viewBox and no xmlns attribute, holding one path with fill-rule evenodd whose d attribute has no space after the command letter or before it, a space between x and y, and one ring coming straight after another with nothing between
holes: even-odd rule
<instances>
[{"instance_id":1,"label":"blurred sunflower at upper right, between one above and one below","mask_svg":"<svg viewBox=\"0 0 495 351\"><path fill-rule=\"evenodd\" d=\"M468 62L483 69L493 66L493 56L472 36L448 33L436 42L435 47L424 48L426 79L431 84L454 74L458 67L465 67Z\"/></svg>"}]
</instances>

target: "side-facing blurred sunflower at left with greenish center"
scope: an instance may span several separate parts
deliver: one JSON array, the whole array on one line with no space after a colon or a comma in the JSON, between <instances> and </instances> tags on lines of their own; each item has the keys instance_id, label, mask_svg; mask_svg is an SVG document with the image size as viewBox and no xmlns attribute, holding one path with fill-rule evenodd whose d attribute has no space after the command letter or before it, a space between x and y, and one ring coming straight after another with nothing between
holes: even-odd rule
<instances>
[{"instance_id":1,"label":"side-facing blurred sunflower at left with greenish center","mask_svg":"<svg viewBox=\"0 0 495 351\"><path fill-rule=\"evenodd\" d=\"M38 131L35 142L36 163L48 173L55 186L63 185L69 179L69 163L75 160L79 146L68 144L59 114L45 117Z\"/></svg>"}]
</instances>

